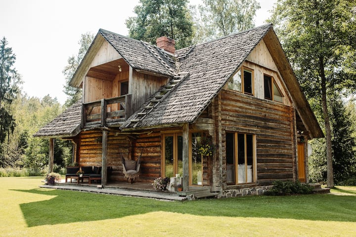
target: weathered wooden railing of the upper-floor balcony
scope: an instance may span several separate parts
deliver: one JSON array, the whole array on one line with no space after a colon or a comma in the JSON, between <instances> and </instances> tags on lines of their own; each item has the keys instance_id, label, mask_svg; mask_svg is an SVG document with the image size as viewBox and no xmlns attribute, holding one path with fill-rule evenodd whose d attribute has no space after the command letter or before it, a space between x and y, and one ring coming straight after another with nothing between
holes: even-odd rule
<instances>
[{"instance_id":1,"label":"weathered wooden railing of the upper-floor balcony","mask_svg":"<svg viewBox=\"0 0 356 237\"><path fill-rule=\"evenodd\" d=\"M131 115L131 94L83 103L82 127L121 126Z\"/></svg>"}]
</instances>

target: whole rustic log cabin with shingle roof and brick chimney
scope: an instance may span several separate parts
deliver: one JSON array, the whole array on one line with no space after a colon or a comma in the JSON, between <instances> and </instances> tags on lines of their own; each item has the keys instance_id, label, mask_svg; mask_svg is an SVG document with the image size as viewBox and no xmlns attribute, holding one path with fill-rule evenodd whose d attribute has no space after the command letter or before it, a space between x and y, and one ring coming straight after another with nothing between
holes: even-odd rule
<instances>
[{"instance_id":1,"label":"whole rustic log cabin with shingle roof and brick chimney","mask_svg":"<svg viewBox=\"0 0 356 237\"><path fill-rule=\"evenodd\" d=\"M83 99L34 136L50 154L70 139L73 160L111 166L111 183L127 180L121 158L140 158L135 182L180 174L183 191L261 194L309 182L307 142L324 136L271 24L179 50L100 29L70 85Z\"/></svg>"}]
</instances>

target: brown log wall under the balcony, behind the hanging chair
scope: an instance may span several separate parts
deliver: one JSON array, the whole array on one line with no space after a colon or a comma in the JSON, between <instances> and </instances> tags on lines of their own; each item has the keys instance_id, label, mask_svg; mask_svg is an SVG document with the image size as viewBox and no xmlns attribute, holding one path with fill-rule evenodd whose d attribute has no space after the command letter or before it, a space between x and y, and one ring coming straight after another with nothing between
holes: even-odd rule
<instances>
[{"instance_id":1,"label":"brown log wall under the balcony, behind the hanging chair","mask_svg":"<svg viewBox=\"0 0 356 237\"><path fill-rule=\"evenodd\" d=\"M119 133L108 133L107 166L113 168L109 182L126 181L122 173L121 157L137 160L141 155L140 176L138 182L153 182L161 176L161 134L153 131L150 134L139 134L136 140ZM102 132L86 131L80 134L79 165L101 166Z\"/></svg>"}]
</instances>

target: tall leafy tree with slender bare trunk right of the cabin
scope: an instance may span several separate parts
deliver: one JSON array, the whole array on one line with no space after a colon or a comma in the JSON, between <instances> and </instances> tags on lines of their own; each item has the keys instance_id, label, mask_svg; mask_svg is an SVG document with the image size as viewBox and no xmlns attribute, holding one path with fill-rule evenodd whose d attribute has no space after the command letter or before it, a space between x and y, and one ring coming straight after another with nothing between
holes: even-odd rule
<instances>
[{"instance_id":1,"label":"tall leafy tree with slender bare trunk right of the cabin","mask_svg":"<svg viewBox=\"0 0 356 237\"><path fill-rule=\"evenodd\" d=\"M327 97L356 89L355 7L349 0L279 0L271 17L302 90L322 108L328 187L334 181Z\"/></svg>"}]
</instances>

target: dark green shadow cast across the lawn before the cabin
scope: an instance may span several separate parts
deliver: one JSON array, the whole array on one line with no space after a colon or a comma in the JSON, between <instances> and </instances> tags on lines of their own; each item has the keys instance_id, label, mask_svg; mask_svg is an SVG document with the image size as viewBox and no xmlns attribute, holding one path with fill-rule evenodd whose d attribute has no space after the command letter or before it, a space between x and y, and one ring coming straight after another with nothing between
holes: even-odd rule
<instances>
[{"instance_id":1,"label":"dark green shadow cast across the lawn before the cabin","mask_svg":"<svg viewBox=\"0 0 356 237\"><path fill-rule=\"evenodd\" d=\"M14 191L53 196L49 200L20 204L28 227L106 220L156 211L201 216L356 222L355 196L255 196L197 201L159 201L66 190Z\"/></svg>"}]
</instances>

